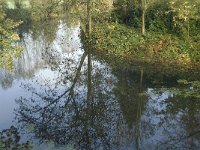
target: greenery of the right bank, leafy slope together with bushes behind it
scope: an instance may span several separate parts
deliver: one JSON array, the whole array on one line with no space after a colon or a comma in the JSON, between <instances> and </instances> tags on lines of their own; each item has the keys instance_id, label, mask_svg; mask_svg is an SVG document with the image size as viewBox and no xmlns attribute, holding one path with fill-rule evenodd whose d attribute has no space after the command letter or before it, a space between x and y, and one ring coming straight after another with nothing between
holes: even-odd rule
<instances>
[{"instance_id":1,"label":"greenery of the right bank, leafy slope together with bushes behind it","mask_svg":"<svg viewBox=\"0 0 200 150\"><path fill-rule=\"evenodd\" d=\"M198 65L200 3L187 0L146 2L145 21L141 21L141 5L139 1L115 3L111 20L93 27L93 48L129 62L186 68L194 63Z\"/></svg>"}]
</instances>

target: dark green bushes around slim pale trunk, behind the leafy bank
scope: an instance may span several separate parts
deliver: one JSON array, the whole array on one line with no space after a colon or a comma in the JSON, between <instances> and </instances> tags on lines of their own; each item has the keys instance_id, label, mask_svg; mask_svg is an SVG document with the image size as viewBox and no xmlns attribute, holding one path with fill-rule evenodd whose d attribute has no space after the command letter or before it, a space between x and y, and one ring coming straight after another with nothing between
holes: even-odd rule
<instances>
[{"instance_id":1,"label":"dark green bushes around slim pale trunk, behind the leafy bank","mask_svg":"<svg viewBox=\"0 0 200 150\"><path fill-rule=\"evenodd\" d=\"M113 22L141 28L145 4L145 24L149 31L168 32L182 38L199 31L200 2L198 0L117 0L112 13ZM187 36L186 36L187 35Z\"/></svg>"}]
</instances>

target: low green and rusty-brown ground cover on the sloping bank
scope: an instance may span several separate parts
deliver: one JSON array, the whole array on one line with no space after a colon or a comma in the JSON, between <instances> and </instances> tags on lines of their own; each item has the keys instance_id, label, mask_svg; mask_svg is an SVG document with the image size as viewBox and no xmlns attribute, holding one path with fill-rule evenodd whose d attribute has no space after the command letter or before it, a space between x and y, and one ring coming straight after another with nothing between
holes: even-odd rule
<instances>
[{"instance_id":1,"label":"low green and rusty-brown ground cover on the sloping bank","mask_svg":"<svg viewBox=\"0 0 200 150\"><path fill-rule=\"evenodd\" d=\"M191 44L176 36L158 32L142 36L139 31L116 23L96 25L90 41L95 50L128 62L178 64L185 67L192 63L190 51L197 49L196 42Z\"/></svg>"}]
</instances>

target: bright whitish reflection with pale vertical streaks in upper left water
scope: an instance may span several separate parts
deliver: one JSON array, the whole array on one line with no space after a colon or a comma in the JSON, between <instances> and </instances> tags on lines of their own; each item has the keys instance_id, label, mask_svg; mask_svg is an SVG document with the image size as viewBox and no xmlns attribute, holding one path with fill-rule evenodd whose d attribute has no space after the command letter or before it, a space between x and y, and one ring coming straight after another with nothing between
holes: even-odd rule
<instances>
[{"instance_id":1,"label":"bright whitish reflection with pale vertical streaks in upper left water","mask_svg":"<svg viewBox=\"0 0 200 150\"><path fill-rule=\"evenodd\" d=\"M80 49L79 24L68 27L64 21L56 21L56 23L57 27L51 23L42 26L37 24L38 27L33 25L30 33L22 33L20 46L23 48L23 53L21 58L15 60L12 73L5 70L0 72L0 85L4 89L12 87L14 80L31 79L45 68L51 70L56 68L56 64L51 62L52 55L57 55L54 59L60 59L62 54L69 54L71 51ZM51 30L52 26L55 31ZM57 50L56 53L54 49Z\"/></svg>"}]
</instances>

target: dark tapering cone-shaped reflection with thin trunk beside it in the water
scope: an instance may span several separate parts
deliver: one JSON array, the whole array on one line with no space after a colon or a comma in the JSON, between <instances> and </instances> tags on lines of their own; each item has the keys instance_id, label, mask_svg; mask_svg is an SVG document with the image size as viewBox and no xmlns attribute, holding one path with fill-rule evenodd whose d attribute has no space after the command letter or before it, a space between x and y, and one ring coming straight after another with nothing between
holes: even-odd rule
<instances>
[{"instance_id":1,"label":"dark tapering cone-shaped reflection with thin trunk beside it in the water","mask_svg":"<svg viewBox=\"0 0 200 150\"><path fill-rule=\"evenodd\" d=\"M120 104L126 124L129 129L133 129L132 140L135 141L136 149L140 149L141 140L144 136L141 131L144 122L141 121L141 117L148 101L147 96L142 94L142 92L145 91L142 85L142 69L140 73L139 76L136 75L138 78L135 80L131 78L130 72L127 70L117 72L116 76L119 81L115 87L115 95Z\"/></svg>"}]
</instances>

